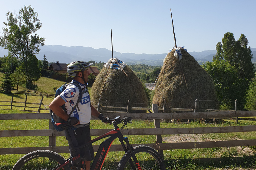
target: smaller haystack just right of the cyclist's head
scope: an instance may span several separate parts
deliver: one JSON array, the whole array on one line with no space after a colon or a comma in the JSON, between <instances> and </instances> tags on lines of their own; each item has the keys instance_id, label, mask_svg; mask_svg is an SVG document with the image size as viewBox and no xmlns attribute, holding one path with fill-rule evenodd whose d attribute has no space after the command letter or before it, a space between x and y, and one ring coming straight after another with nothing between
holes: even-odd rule
<instances>
[{"instance_id":1,"label":"smaller haystack just right of the cyclist's head","mask_svg":"<svg viewBox=\"0 0 256 170\"><path fill-rule=\"evenodd\" d=\"M127 65L123 71L103 67L92 85L91 101L93 105L98 105L100 95L101 106L127 107L128 100L130 100L131 107L148 106L142 82Z\"/></svg>"}]
</instances>

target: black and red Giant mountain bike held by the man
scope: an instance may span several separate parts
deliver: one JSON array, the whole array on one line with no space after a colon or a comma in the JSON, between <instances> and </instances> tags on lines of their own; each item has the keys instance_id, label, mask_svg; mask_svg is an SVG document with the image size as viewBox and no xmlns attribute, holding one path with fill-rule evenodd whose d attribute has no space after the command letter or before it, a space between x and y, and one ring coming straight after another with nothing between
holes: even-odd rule
<instances>
[{"instance_id":1,"label":"black and red Giant mountain bike held by the man","mask_svg":"<svg viewBox=\"0 0 256 170\"><path fill-rule=\"evenodd\" d=\"M131 121L131 117L124 117L121 119L120 116L113 120L108 120L108 123L114 126L113 130L92 139L84 145L75 147L71 144L71 147L74 150L79 149L108 137L100 144L90 167L90 170L100 170L112 142L114 139L119 138L125 154L118 163L117 170L165 170L164 160L155 149L146 145L132 147L128 137L123 137L121 130L124 127L127 128L127 124L132 123ZM122 124L122 127L119 128L118 124ZM56 123L56 125L63 128L68 127L68 125L64 123ZM12 170L80 170L81 168L85 170L84 161L84 157L81 155L75 155L65 160L56 152L50 150L37 150L20 158L13 166Z\"/></svg>"}]
</instances>

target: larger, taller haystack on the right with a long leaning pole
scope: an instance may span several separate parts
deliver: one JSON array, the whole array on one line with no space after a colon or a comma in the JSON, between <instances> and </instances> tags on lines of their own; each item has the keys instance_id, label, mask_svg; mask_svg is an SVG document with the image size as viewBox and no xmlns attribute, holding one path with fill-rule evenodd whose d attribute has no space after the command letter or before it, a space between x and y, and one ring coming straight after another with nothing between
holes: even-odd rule
<instances>
[{"instance_id":1,"label":"larger, taller haystack on the right with a long leaning pole","mask_svg":"<svg viewBox=\"0 0 256 170\"><path fill-rule=\"evenodd\" d=\"M197 111L204 109L219 109L214 82L210 75L198 62L183 48L179 48L182 59L174 56L175 50L169 52L156 83L153 103L165 108L195 108ZM183 73L186 79L183 76Z\"/></svg>"}]
</instances>

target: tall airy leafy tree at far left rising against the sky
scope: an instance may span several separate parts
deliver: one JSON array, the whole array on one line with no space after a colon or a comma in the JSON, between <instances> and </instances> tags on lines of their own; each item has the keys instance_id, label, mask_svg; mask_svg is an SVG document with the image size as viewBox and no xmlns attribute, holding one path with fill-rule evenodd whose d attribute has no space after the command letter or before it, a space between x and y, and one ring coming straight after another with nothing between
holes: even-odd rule
<instances>
[{"instance_id":1,"label":"tall airy leafy tree at far left rising against the sky","mask_svg":"<svg viewBox=\"0 0 256 170\"><path fill-rule=\"evenodd\" d=\"M42 27L37 18L38 13L31 6L24 6L18 14L8 11L6 16L8 22L4 24L9 29L2 29L4 36L0 37L0 46L22 60L23 71L32 80L30 72L34 72L35 70L31 71L31 69L35 68L29 66L31 62L29 59L39 53L39 45L44 45L45 41L35 34Z\"/></svg>"}]
</instances>

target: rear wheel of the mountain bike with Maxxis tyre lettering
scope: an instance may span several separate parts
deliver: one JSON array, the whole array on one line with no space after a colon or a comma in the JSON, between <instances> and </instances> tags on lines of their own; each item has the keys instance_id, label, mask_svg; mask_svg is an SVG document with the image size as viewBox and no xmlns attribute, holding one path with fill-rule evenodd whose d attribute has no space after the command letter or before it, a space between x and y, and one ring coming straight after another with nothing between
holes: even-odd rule
<instances>
[{"instance_id":1,"label":"rear wheel of the mountain bike with Maxxis tyre lettering","mask_svg":"<svg viewBox=\"0 0 256 170\"><path fill-rule=\"evenodd\" d=\"M37 150L20 158L12 170L52 170L54 167L62 165L65 162L66 160L56 152ZM70 167L67 165L63 169L70 170Z\"/></svg>"}]
</instances>

